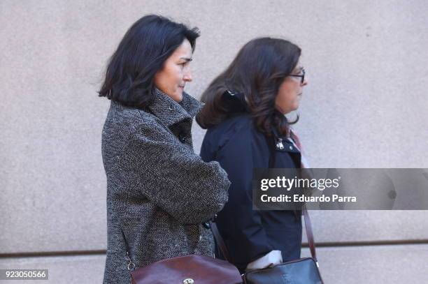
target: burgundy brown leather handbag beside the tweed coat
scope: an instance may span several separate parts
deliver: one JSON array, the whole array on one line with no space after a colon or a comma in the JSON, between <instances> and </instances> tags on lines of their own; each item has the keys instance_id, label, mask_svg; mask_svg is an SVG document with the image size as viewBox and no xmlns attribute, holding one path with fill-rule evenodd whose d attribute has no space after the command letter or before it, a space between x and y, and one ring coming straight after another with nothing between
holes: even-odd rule
<instances>
[{"instance_id":1,"label":"burgundy brown leather handbag beside the tweed coat","mask_svg":"<svg viewBox=\"0 0 428 284\"><path fill-rule=\"evenodd\" d=\"M242 283L241 274L234 265L226 260L219 260L205 255L186 255L159 260L146 267L134 270L134 263L129 258L128 269L131 271L132 284L238 284Z\"/></svg>"}]
</instances>

